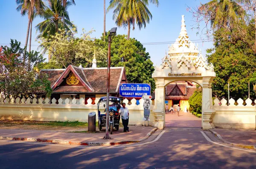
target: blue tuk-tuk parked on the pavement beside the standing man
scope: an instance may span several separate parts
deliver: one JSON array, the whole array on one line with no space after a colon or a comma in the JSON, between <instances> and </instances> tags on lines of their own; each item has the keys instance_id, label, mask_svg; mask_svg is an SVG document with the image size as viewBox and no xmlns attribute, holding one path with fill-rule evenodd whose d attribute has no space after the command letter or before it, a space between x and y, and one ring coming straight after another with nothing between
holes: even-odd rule
<instances>
[{"instance_id":1,"label":"blue tuk-tuk parked on the pavement beside the standing man","mask_svg":"<svg viewBox=\"0 0 256 169\"><path fill-rule=\"evenodd\" d=\"M120 120L120 114L119 109L121 99L119 97L109 97L109 130L110 134L113 132L113 128L116 128L116 130L119 129L119 120ZM98 126L99 130L102 130L102 127L106 127L106 104L107 104L107 97L101 97L98 102ZM99 106L104 106L104 112L100 112Z\"/></svg>"}]
</instances>

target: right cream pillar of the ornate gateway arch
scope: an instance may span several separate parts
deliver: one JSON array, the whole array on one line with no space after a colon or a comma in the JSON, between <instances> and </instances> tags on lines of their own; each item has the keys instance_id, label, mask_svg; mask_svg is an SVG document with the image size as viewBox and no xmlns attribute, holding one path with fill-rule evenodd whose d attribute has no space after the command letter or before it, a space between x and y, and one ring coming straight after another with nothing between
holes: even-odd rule
<instances>
[{"instance_id":1,"label":"right cream pillar of the ornate gateway arch","mask_svg":"<svg viewBox=\"0 0 256 169\"><path fill-rule=\"evenodd\" d=\"M202 89L202 128L204 130L212 129L214 127L212 118L215 110L212 106L212 77L203 77Z\"/></svg>"}]
</instances>

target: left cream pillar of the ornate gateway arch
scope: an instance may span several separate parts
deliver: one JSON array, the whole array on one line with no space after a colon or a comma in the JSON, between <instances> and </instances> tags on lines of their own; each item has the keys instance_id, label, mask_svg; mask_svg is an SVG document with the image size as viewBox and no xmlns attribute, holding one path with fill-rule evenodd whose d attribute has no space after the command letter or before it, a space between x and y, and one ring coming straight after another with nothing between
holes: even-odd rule
<instances>
[{"instance_id":1,"label":"left cream pillar of the ornate gateway arch","mask_svg":"<svg viewBox=\"0 0 256 169\"><path fill-rule=\"evenodd\" d=\"M163 129L165 127L164 121L164 78L155 78L156 89L155 89L155 105L154 105L154 123L153 126L158 129Z\"/></svg>"}]
</instances>

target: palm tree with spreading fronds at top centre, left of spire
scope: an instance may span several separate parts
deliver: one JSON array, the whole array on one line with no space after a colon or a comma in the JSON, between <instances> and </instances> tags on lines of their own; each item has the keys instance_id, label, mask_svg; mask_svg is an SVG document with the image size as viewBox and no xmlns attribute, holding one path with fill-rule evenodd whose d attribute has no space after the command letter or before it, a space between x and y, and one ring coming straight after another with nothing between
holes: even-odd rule
<instances>
[{"instance_id":1,"label":"palm tree with spreading fronds at top centre, left of spire","mask_svg":"<svg viewBox=\"0 0 256 169\"><path fill-rule=\"evenodd\" d=\"M111 0L107 9L109 11L115 8L113 11L113 20L116 20L116 25L128 26L127 39L130 39L131 24L133 24L133 30L135 29L135 23L139 29L146 27L146 24L152 20L152 14L148 9L148 2L159 5L158 0Z\"/></svg>"}]
</instances>

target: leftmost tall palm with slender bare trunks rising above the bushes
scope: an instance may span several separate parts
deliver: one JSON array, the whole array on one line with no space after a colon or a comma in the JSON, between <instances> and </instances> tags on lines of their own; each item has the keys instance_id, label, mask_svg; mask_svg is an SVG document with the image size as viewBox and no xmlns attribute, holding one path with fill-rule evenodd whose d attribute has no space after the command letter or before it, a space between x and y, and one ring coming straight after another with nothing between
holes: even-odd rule
<instances>
[{"instance_id":1,"label":"leftmost tall palm with slender bare trunks rising above the bushes","mask_svg":"<svg viewBox=\"0 0 256 169\"><path fill-rule=\"evenodd\" d=\"M41 13L41 11L44 10L44 3L42 2L42 0L16 0L16 4L18 5L17 11L20 11L22 16L28 14L28 17L29 17L27 34L26 34L26 42L25 42L25 50L24 50L25 53L23 57L23 63L25 63L29 32L30 32L29 52L31 51L32 20L34 19L35 13L39 14ZM30 60L29 60L29 67L30 67Z\"/></svg>"}]
</instances>

